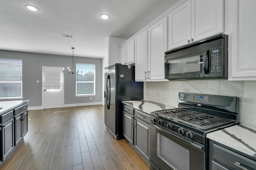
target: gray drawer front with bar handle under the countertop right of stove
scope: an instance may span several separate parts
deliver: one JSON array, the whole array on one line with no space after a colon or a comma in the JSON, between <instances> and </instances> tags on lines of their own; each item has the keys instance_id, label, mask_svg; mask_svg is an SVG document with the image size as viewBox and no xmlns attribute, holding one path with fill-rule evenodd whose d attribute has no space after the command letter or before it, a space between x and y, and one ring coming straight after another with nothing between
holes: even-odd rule
<instances>
[{"instance_id":1,"label":"gray drawer front with bar handle under the countertop right of stove","mask_svg":"<svg viewBox=\"0 0 256 170\"><path fill-rule=\"evenodd\" d=\"M228 169L240 170L242 169L241 167L246 169L255 169L256 167L255 161L214 143L212 158L214 161L222 164Z\"/></svg>"}]
</instances>

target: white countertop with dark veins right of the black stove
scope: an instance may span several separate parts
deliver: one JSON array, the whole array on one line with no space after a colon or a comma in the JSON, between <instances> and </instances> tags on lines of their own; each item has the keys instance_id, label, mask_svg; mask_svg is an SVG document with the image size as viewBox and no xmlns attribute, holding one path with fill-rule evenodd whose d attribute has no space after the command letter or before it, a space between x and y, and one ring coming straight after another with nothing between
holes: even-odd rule
<instances>
[{"instance_id":1,"label":"white countertop with dark veins right of the black stove","mask_svg":"<svg viewBox=\"0 0 256 170\"><path fill-rule=\"evenodd\" d=\"M242 123L208 133L207 138L256 158L256 126Z\"/></svg>"}]
</instances>

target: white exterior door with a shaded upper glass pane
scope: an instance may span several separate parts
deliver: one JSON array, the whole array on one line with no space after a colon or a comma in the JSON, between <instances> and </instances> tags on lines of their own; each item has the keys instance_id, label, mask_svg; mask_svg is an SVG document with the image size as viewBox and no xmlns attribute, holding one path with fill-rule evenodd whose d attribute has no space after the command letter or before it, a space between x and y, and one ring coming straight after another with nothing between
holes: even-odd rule
<instances>
[{"instance_id":1,"label":"white exterior door with a shaded upper glass pane","mask_svg":"<svg viewBox=\"0 0 256 170\"><path fill-rule=\"evenodd\" d=\"M44 109L63 107L63 87L63 68L42 66L42 106Z\"/></svg>"}]
</instances>

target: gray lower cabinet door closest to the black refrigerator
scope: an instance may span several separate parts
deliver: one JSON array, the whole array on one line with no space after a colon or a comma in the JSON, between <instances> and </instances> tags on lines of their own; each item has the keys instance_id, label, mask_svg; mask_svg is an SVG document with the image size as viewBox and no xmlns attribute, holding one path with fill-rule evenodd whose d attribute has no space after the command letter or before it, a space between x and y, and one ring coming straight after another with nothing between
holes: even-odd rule
<instances>
[{"instance_id":1,"label":"gray lower cabinet door closest to the black refrigerator","mask_svg":"<svg viewBox=\"0 0 256 170\"><path fill-rule=\"evenodd\" d=\"M134 116L123 111L123 135L133 145L133 123Z\"/></svg>"}]
</instances>

